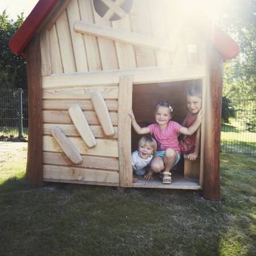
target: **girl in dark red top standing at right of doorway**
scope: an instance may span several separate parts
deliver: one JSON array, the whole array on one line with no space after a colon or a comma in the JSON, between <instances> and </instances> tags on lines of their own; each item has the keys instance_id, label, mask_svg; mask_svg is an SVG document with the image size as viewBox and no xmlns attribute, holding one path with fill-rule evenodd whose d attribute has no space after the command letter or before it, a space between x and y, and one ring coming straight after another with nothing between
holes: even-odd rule
<instances>
[{"instance_id":1,"label":"girl in dark red top standing at right of doorway","mask_svg":"<svg viewBox=\"0 0 256 256\"><path fill-rule=\"evenodd\" d=\"M199 114L199 111L201 109L201 98L201 86L192 86L192 88L188 90L188 114L182 123L183 126L189 127L196 121L197 115ZM179 142L181 154L185 154L185 157L189 160L196 160L197 157L199 156L200 135L201 129L198 128L196 130L196 133L185 136Z\"/></svg>"}]
</instances>

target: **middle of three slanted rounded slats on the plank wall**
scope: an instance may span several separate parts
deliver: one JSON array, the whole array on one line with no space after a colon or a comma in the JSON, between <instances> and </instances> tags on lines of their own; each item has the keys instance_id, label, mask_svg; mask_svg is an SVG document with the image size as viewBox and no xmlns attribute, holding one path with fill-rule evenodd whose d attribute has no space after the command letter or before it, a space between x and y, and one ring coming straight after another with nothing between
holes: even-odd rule
<instances>
[{"instance_id":1,"label":"middle of three slanted rounded slats on the plank wall","mask_svg":"<svg viewBox=\"0 0 256 256\"><path fill-rule=\"evenodd\" d=\"M85 144L89 148L96 147L96 139L80 106L77 104L73 104L69 107L68 113Z\"/></svg>"}]
</instances>

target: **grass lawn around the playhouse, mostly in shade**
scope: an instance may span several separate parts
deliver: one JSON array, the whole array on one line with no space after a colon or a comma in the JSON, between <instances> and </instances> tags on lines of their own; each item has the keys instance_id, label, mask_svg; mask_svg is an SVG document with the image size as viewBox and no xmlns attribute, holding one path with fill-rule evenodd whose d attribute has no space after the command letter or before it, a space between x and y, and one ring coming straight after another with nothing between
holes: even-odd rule
<instances>
[{"instance_id":1,"label":"grass lawn around the playhouse, mostly in shade","mask_svg":"<svg viewBox=\"0 0 256 256\"><path fill-rule=\"evenodd\" d=\"M0 255L256 255L256 158L221 154L222 201L200 192L24 180L1 157Z\"/></svg>"}]
</instances>

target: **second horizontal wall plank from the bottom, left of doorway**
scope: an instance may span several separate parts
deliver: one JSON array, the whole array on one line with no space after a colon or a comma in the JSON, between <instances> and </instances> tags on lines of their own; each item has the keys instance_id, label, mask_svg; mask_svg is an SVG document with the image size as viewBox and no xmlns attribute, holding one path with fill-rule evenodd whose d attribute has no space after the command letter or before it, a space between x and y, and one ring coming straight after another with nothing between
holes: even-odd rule
<instances>
[{"instance_id":1,"label":"second horizontal wall plank from the bottom, left of doorway","mask_svg":"<svg viewBox=\"0 0 256 256\"><path fill-rule=\"evenodd\" d=\"M43 152L44 164L73 166L73 163L63 153ZM82 163L77 167L118 171L118 158L102 158L100 156L82 156Z\"/></svg>"}]
</instances>

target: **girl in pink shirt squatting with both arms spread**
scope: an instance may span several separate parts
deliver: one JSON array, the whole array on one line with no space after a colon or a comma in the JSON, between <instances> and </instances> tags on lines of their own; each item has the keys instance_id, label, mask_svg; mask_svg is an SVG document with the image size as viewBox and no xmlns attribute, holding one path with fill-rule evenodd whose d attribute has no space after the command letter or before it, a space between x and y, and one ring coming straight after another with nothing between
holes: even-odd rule
<instances>
[{"instance_id":1,"label":"girl in pink shirt squatting with both arms spread","mask_svg":"<svg viewBox=\"0 0 256 256\"><path fill-rule=\"evenodd\" d=\"M138 125L133 112L131 113L131 124L138 134L154 135L158 144L158 151L155 152L154 158L150 163L150 170L144 177L152 179L153 172L163 172L163 184L171 183L172 167L180 160L180 147L178 142L179 133L192 135L201 124L201 112L197 115L197 119L190 127L183 127L179 123L171 121L172 106L167 101L161 101L155 108L155 121L147 127Z\"/></svg>"}]
</instances>

